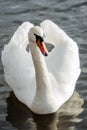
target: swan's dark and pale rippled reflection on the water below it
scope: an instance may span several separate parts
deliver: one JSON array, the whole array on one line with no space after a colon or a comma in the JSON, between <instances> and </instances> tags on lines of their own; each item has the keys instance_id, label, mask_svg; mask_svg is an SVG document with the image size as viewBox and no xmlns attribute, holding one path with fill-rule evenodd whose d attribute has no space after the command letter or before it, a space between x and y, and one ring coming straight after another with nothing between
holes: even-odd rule
<instances>
[{"instance_id":1,"label":"swan's dark and pale rippled reflection on the water below it","mask_svg":"<svg viewBox=\"0 0 87 130\"><path fill-rule=\"evenodd\" d=\"M7 121L19 130L75 130L80 122L84 101L77 92L58 112L46 115L32 113L29 108L19 102L13 92L7 98Z\"/></svg>"}]
</instances>

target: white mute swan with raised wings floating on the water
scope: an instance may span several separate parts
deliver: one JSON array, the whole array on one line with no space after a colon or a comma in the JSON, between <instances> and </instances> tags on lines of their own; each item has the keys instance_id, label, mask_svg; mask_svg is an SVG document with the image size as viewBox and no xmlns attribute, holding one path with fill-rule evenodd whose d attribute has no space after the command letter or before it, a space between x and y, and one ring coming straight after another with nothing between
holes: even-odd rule
<instances>
[{"instance_id":1,"label":"white mute swan with raised wings floating on the water","mask_svg":"<svg viewBox=\"0 0 87 130\"><path fill-rule=\"evenodd\" d=\"M50 53L44 42L55 46ZM80 74L76 42L50 20L40 26L24 22L5 45L1 59L5 80L16 97L38 114L56 112L72 96Z\"/></svg>"}]
</instances>

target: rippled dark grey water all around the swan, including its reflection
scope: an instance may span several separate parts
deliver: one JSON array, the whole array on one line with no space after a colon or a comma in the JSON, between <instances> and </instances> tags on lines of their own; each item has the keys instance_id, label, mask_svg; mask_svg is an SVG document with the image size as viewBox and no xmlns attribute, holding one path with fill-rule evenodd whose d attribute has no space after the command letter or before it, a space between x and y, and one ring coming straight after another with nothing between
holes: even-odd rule
<instances>
[{"instance_id":1,"label":"rippled dark grey water all around the swan, including its reflection","mask_svg":"<svg viewBox=\"0 0 87 130\"><path fill-rule=\"evenodd\" d=\"M0 130L87 130L87 0L0 0L0 51L22 22L44 19L78 43L82 73L76 91L58 112L31 114L5 83L0 61Z\"/></svg>"}]
</instances>

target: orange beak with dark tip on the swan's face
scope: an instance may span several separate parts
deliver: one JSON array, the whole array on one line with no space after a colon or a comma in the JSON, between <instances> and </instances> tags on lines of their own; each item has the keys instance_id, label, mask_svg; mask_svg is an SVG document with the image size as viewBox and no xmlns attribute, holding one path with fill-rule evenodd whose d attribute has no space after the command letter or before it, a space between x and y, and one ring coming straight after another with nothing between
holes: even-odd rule
<instances>
[{"instance_id":1,"label":"orange beak with dark tip on the swan's face","mask_svg":"<svg viewBox=\"0 0 87 130\"><path fill-rule=\"evenodd\" d=\"M44 56L47 56L47 55L48 55L48 50L47 50L47 48L46 48L45 43L44 43L43 41L40 41L40 39L39 39L39 40L37 41L37 45L38 45L40 51L42 52L42 54L43 54Z\"/></svg>"}]
</instances>

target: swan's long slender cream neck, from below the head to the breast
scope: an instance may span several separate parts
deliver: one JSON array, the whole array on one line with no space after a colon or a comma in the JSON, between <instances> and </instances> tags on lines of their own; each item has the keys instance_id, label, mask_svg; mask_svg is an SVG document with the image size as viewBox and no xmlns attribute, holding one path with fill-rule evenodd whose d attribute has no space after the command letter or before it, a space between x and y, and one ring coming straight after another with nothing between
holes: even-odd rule
<instances>
[{"instance_id":1,"label":"swan's long slender cream neck, from below the head to the breast","mask_svg":"<svg viewBox=\"0 0 87 130\"><path fill-rule=\"evenodd\" d=\"M36 44L30 42L32 59L35 67L37 91L46 91L51 87L47 66L43 55Z\"/></svg>"}]
</instances>

